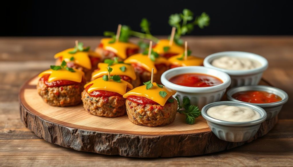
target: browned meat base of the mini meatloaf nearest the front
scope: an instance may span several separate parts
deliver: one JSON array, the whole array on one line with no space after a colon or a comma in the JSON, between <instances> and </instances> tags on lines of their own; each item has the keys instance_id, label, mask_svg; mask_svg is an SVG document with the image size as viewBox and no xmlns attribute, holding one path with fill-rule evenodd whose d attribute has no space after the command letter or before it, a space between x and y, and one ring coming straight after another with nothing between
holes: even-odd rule
<instances>
[{"instance_id":1,"label":"browned meat base of the mini meatloaf nearest the front","mask_svg":"<svg viewBox=\"0 0 293 167\"><path fill-rule=\"evenodd\" d=\"M129 120L136 125L149 127L164 126L175 120L178 104L173 103L161 106L159 104L137 104L126 99L126 111Z\"/></svg>"}]
</instances>

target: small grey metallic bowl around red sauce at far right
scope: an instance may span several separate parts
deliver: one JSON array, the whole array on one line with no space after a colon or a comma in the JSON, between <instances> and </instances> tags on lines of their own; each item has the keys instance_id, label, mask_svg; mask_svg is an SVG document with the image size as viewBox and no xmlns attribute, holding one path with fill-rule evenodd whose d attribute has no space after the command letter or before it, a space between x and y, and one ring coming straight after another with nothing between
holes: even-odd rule
<instances>
[{"instance_id":1,"label":"small grey metallic bowl around red sauce at far right","mask_svg":"<svg viewBox=\"0 0 293 167\"><path fill-rule=\"evenodd\" d=\"M239 101L239 100L234 99L232 97L233 94L235 94L235 93L243 92L243 91L250 91L250 90L265 91L268 93L273 93L273 94L281 97L282 100L274 102L274 103L247 103L247 102ZM288 94L281 89L271 87L271 86L264 86L264 85L241 86L241 87L234 87L234 88L230 89L227 92L227 99L230 101L237 101L237 102L242 102L242 103L246 103L246 104L253 104L253 105L259 106L267 112L268 116L267 116L266 120L270 120L270 119L274 118L275 116L277 116L277 114L281 111L283 104L285 104L288 101Z\"/></svg>"}]
</instances>

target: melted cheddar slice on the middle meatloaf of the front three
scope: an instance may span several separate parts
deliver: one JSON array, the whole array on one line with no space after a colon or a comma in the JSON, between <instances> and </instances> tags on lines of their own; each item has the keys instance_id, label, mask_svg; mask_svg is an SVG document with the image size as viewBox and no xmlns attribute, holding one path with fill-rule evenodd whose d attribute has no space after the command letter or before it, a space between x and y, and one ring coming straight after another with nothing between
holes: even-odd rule
<instances>
[{"instance_id":1,"label":"melted cheddar slice on the middle meatloaf of the front three","mask_svg":"<svg viewBox=\"0 0 293 167\"><path fill-rule=\"evenodd\" d=\"M88 85L91 85L91 87L88 88L88 93L91 93L95 90L105 90L123 95L125 94L127 87L133 89L133 86L129 82L123 80L121 80L121 82L115 82L113 80L104 81L103 78L97 78L91 82L88 82L86 85L84 85L84 88L86 88Z\"/></svg>"}]
</instances>

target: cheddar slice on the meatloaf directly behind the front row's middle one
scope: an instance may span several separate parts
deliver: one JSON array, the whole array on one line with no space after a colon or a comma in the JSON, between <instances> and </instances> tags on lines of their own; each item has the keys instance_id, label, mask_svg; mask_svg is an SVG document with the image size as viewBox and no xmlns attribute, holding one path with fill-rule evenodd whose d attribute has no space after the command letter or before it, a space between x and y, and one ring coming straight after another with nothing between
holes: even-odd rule
<instances>
[{"instance_id":1,"label":"cheddar slice on the meatloaf directly behind the front row's middle one","mask_svg":"<svg viewBox=\"0 0 293 167\"><path fill-rule=\"evenodd\" d=\"M120 70L120 68L123 66L126 67L124 72L122 70ZM92 78L96 79L96 78L99 78L103 75L108 75L107 67L108 67L107 63L99 63L98 64L99 70L93 72ZM118 63L118 64L112 65L111 68L113 68L111 75L125 75L125 76L130 77L132 80L136 80L136 75L135 75L134 69L129 64Z\"/></svg>"}]
</instances>

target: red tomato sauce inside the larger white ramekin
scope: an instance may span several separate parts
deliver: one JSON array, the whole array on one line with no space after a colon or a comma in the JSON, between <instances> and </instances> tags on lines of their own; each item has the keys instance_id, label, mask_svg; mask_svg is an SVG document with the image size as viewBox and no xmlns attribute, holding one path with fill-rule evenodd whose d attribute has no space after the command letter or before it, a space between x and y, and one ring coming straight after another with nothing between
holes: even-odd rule
<instances>
[{"instance_id":1,"label":"red tomato sauce inside the larger white ramekin","mask_svg":"<svg viewBox=\"0 0 293 167\"><path fill-rule=\"evenodd\" d=\"M187 87L210 87L223 83L217 77L201 73L180 74L170 78L169 81Z\"/></svg>"}]
</instances>

